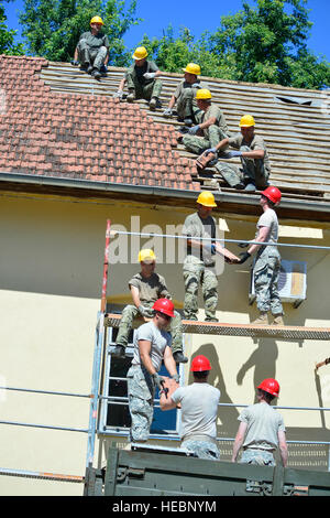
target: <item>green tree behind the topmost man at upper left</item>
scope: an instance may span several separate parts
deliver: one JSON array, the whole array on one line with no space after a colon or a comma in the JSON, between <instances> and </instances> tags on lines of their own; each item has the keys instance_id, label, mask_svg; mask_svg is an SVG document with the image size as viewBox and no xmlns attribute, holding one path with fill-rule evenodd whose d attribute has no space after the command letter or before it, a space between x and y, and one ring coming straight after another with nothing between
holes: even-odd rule
<instances>
[{"instance_id":1,"label":"green tree behind the topmost man at upper left","mask_svg":"<svg viewBox=\"0 0 330 518\"><path fill-rule=\"evenodd\" d=\"M24 8L20 22L32 55L51 61L72 60L90 19L100 15L110 42L109 64L124 66L130 58L122 36L140 22L135 18L136 0L131 0L128 9L120 0L24 0Z\"/></svg>"}]
</instances>

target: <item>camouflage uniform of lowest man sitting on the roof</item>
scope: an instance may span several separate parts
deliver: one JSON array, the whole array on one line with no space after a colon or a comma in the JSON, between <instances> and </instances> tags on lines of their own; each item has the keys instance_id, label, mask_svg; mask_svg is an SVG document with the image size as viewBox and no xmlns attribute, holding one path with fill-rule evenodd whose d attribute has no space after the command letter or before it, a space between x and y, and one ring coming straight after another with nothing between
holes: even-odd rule
<instances>
[{"instance_id":1,"label":"camouflage uniform of lowest man sitting on the roof","mask_svg":"<svg viewBox=\"0 0 330 518\"><path fill-rule=\"evenodd\" d=\"M264 159L249 159L241 157L241 168L218 162L216 169L222 174L226 182L231 187L251 182L254 183L257 188L267 187L271 174L271 163L264 140L258 136L254 136L252 142L246 145L243 136L238 133L235 137L229 139L229 145L242 152L263 150L265 152L265 157Z\"/></svg>"}]
</instances>

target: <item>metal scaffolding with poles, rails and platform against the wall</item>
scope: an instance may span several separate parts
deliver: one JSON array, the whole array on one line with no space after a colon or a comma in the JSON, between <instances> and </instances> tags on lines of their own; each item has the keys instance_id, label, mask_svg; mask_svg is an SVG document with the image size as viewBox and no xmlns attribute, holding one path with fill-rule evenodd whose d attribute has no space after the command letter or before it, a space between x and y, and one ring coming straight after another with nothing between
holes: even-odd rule
<instances>
[{"instance_id":1,"label":"metal scaffolding with poles, rails and platform against the wall","mask_svg":"<svg viewBox=\"0 0 330 518\"><path fill-rule=\"evenodd\" d=\"M116 233L118 234L118 233ZM132 234L132 233L125 233ZM7 476L18 476L18 477L30 477L37 479L47 479L56 482L68 482L68 483L88 483L88 470L94 466L95 462L95 444L96 438L99 432L98 430L98 417L99 417L99 404L102 400L111 399L110 397L105 397L100 390L101 384L101 366L102 366L102 356L105 354L106 345L106 334L108 327L118 327L120 324L121 316L113 313L107 313L107 290L108 290L108 278L109 278L109 247L110 238L114 234L111 233L111 222L107 220L106 227L106 246L105 246L105 261L103 261L103 274L102 274L102 288L101 288L101 304L100 311L97 314L97 323L95 328L95 345L94 345L94 365L92 365L92 377L91 377L91 391L90 393L74 393L74 392L63 392L63 391L48 391L48 390L37 390L31 388L19 388L19 387L0 387L0 390L18 391L18 392L30 392L30 393L43 393L47 396L62 396L62 397L72 397L72 398L82 398L89 401L89 422L86 429L69 428L69 427L56 427L48 424L40 423L26 423L20 421L4 421L1 420L0 424L8 424L14 427L29 427L29 428L40 428L48 429L56 431L69 431L77 433L85 433L87 435L87 453L86 453L86 473L85 475L66 475L48 472L33 472L29 470L15 470L15 468L4 468L0 467L0 475ZM141 236L150 237L154 234L141 234ZM162 236L162 235L160 235ZM162 237L166 237L163 235ZM179 238L180 236L167 236ZM223 241L221 239L221 241ZM242 240L226 240L230 242L242 242ZM257 242L257 241L249 241ZM267 245L263 242L262 245ZM273 245L274 244L270 244ZM282 245L282 246L296 246L296 245ZM320 249L320 250L330 250L330 247L311 247L297 245L299 247ZM138 319L134 321L134 327L138 327L144 320ZM297 326L255 326L253 324L226 324L226 323L208 323L208 322L193 322L183 320L183 331L187 334L210 334L210 335L231 335L231 336L250 336L250 337L276 337L279 339L319 339L327 341L330 338L330 328L315 328L315 327L297 327ZM324 365L327 361L319 365ZM118 404L128 404L128 398L117 398ZM158 400L155 400L155 403L158 403ZM240 408L246 407L246 404L241 403L219 403L219 407L223 408ZM299 411L320 411L328 412L330 408L326 407L275 407L283 410L299 410ZM217 438L222 442L232 442L233 438ZM328 454L328 471L330 471L330 441L287 441L288 444L312 444L312 445L326 445L329 449Z\"/></svg>"}]
</instances>

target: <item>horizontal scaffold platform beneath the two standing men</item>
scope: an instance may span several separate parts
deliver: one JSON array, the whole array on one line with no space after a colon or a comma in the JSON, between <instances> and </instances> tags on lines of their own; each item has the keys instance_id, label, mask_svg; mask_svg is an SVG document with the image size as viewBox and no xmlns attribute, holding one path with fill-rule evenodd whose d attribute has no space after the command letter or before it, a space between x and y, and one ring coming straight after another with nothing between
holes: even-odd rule
<instances>
[{"instance_id":1,"label":"horizontal scaffold platform beneath the two standing men","mask_svg":"<svg viewBox=\"0 0 330 518\"><path fill-rule=\"evenodd\" d=\"M121 315L106 313L105 326L119 327ZM150 319L138 317L133 321L133 328ZM252 338L282 338L282 339L330 339L330 327L305 327L289 325L253 325L232 324L223 322L199 322L183 320L183 332L186 334L250 336Z\"/></svg>"}]
</instances>

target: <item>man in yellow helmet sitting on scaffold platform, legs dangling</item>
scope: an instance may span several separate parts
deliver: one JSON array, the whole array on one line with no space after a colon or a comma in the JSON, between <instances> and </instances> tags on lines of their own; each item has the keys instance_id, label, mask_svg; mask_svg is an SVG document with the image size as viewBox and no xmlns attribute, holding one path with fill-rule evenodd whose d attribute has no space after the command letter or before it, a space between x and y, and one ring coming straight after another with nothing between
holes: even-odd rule
<instances>
[{"instance_id":1,"label":"man in yellow helmet sitting on scaffold platform, legs dangling","mask_svg":"<svg viewBox=\"0 0 330 518\"><path fill-rule=\"evenodd\" d=\"M156 256L153 250L144 249L139 252L141 272L133 276L129 282L133 304L127 305L122 311L113 356L124 358L125 347L133 320L141 315L147 319L154 316L152 309L158 299L172 299L164 277L155 273ZM188 358L183 355L183 326L180 314L175 311L170 321L172 350L175 361L186 363Z\"/></svg>"}]
</instances>

